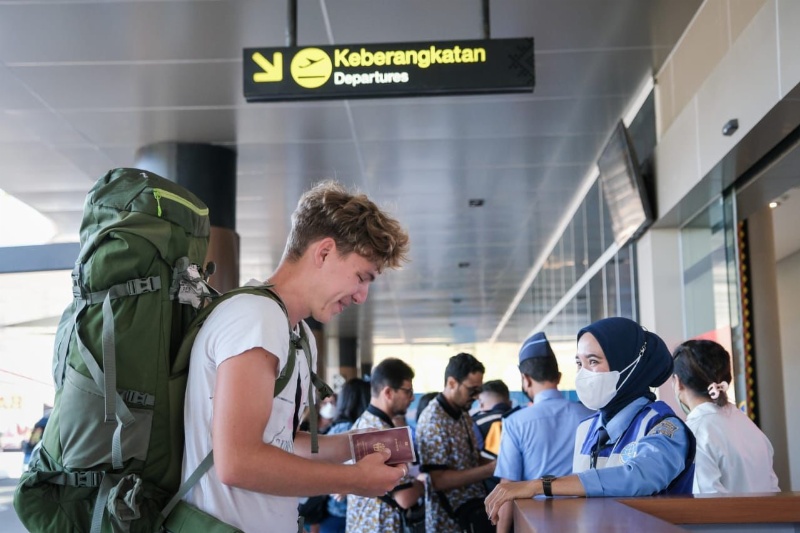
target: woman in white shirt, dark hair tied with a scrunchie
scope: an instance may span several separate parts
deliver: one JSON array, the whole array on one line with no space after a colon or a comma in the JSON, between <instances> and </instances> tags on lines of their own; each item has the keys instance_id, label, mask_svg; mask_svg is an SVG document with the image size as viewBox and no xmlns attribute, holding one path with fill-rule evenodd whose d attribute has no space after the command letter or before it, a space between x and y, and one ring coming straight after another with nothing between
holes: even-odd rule
<instances>
[{"instance_id":1,"label":"woman in white shirt, dark hair tied with a scrunchie","mask_svg":"<svg viewBox=\"0 0 800 533\"><path fill-rule=\"evenodd\" d=\"M673 352L673 390L697 438L692 492L779 492L772 444L728 402L731 358L713 341L690 340Z\"/></svg>"}]
</instances>

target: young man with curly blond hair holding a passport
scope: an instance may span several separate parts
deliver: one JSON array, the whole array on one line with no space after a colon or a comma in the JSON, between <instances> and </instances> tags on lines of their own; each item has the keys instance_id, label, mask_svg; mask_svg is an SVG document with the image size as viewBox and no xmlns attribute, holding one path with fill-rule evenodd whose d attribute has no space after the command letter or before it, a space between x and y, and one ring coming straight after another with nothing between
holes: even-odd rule
<instances>
[{"instance_id":1,"label":"young man with curly blond hair holding a passport","mask_svg":"<svg viewBox=\"0 0 800 533\"><path fill-rule=\"evenodd\" d=\"M292 214L292 229L278 268L267 279L280 296L295 334L307 317L326 323L367 299L370 284L399 268L408 235L367 196L327 181L306 192ZM378 496L394 488L407 466L387 466L388 453L354 465L346 434L297 432L311 387L299 350L287 386L273 398L286 366L290 332L277 302L241 294L208 317L192 349L186 391L184 481L214 450L214 466L186 500L248 533L297 530L297 498L328 493Z\"/></svg>"}]
</instances>

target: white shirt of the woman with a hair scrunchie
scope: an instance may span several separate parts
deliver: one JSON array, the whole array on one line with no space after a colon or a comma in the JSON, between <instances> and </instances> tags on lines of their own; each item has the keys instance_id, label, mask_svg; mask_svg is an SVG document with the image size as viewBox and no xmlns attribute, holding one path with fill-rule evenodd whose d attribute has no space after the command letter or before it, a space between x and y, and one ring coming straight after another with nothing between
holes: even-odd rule
<instances>
[{"instance_id":1,"label":"white shirt of the woman with a hair scrunchie","mask_svg":"<svg viewBox=\"0 0 800 533\"><path fill-rule=\"evenodd\" d=\"M692 409L686 424L697 438L692 492L780 491L772 444L735 405L705 402Z\"/></svg>"}]
</instances>

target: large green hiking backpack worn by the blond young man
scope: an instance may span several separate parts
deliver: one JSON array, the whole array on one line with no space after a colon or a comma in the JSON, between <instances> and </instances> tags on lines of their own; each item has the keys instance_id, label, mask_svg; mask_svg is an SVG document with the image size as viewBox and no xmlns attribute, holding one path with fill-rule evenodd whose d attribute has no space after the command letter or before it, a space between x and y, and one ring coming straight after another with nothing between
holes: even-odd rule
<instances>
[{"instance_id":1,"label":"large green hiking backpack worn by the blond young man","mask_svg":"<svg viewBox=\"0 0 800 533\"><path fill-rule=\"evenodd\" d=\"M236 294L260 294L284 308L266 286L215 295L200 266L209 233L206 206L150 172L114 169L89 192L75 298L56 333L55 406L14 495L29 531L152 533L191 488L180 480L197 331L217 303ZM287 317L291 331L288 324ZM276 395L305 344L292 335ZM310 358L307 345L304 352ZM212 462L209 454L190 481Z\"/></svg>"}]
</instances>

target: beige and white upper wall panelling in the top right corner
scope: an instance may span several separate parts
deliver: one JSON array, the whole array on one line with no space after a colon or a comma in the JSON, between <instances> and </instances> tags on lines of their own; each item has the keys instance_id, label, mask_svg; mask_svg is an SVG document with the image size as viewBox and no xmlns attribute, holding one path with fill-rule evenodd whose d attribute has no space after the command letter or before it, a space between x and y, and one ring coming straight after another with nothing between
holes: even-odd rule
<instances>
[{"instance_id":1,"label":"beige and white upper wall panelling in the top right corner","mask_svg":"<svg viewBox=\"0 0 800 533\"><path fill-rule=\"evenodd\" d=\"M656 75L658 213L676 207L800 82L798 26L796 0L704 2ZM722 135L732 118L739 130Z\"/></svg>"}]
</instances>

